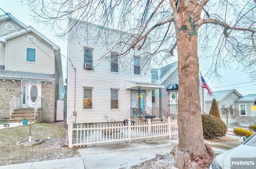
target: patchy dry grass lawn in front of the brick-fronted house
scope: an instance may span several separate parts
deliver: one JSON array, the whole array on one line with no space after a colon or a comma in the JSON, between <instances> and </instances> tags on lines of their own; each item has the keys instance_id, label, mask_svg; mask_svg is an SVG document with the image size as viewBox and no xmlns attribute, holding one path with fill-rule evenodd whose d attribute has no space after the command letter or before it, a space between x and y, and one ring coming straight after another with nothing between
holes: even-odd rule
<instances>
[{"instance_id":1,"label":"patchy dry grass lawn in front of the brick-fronted house","mask_svg":"<svg viewBox=\"0 0 256 169\"><path fill-rule=\"evenodd\" d=\"M40 145L20 147L18 141L28 140L29 125L0 130L0 165L28 163L50 159L62 159L78 156L76 149L66 145L65 122L34 123L31 125L32 141L45 139ZM50 140L46 140L50 137Z\"/></svg>"}]
</instances>

